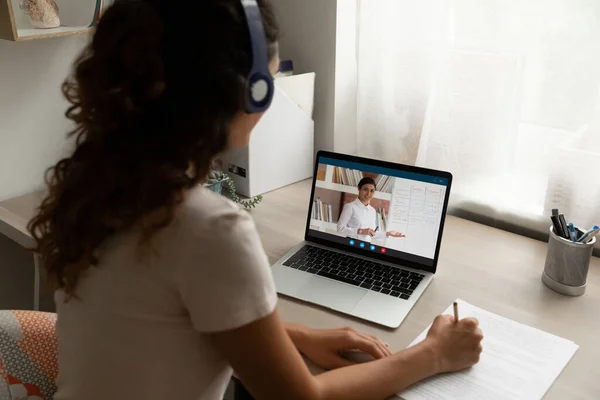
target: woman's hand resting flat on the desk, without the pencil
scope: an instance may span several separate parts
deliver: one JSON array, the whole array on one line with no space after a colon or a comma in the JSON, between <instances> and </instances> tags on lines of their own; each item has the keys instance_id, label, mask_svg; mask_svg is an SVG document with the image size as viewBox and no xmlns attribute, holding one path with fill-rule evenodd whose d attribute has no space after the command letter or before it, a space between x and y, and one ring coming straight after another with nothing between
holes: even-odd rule
<instances>
[{"instance_id":1,"label":"woman's hand resting flat on the desk, without the pencil","mask_svg":"<svg viewBox=\"0 0 600 400\"><path fill-rule=\"evenodd\" d=\"M335 369L353 365L341 354L348 350L360 350L376 359L392 353L375 336L357 332L352 328L311 329L301 325L287 324L286 330L296 348L321 368Z\"/></svg>"}]
</instances>

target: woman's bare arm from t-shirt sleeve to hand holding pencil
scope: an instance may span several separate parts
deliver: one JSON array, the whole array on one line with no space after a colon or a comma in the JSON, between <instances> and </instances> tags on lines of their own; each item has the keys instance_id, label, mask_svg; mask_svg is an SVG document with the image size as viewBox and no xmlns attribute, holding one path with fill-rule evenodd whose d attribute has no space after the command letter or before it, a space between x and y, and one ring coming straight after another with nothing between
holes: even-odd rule
<instances>
[{"instance_id":1,"label":"woman's bare arm from t-shirt sleeve to hand holding pencil","mask_svg":"<svg viewBox=\"0 0 600 400\"><path fill-rule=\"evenodd\" d=\"M441 354L440 350L448 352L448 346L441 346L438 338L430 337L389 357L315 377L294 347L277 312L239 329L213 334L213 337L218 349L257 400L377 400L438 372L475 363L479 356L475 347L481 341L480 332L476 332L476 323L463 321L452 323L454 328L448 324L440 328L446 336L446 331L454 329L462 332L462 336L454 334L454 339L456 336L467 339L466 347L455 346L455 350L465 354L454 356L457 360L460 358L461 363L444 362L448 354ZM447 337L441 339L448 341ZM466 349L471 347L473 350L469 353ZM477 355L477 360L471 353Z\"/></svg>"}]
</instances>

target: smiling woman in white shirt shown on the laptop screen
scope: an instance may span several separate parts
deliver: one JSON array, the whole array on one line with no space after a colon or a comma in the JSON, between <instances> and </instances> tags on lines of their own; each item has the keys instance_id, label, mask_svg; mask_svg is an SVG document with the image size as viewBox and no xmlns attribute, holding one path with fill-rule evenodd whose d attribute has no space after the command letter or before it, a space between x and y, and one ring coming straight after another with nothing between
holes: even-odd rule
<instances>
[{"instance_id":1,"label":"smiling woman in white shirt shown on the laptop screen","mask_svg":"<svg viewBox=\"0 0 600 400\"><path fill-rule=\"evenodd\" d=\"M377 212L371 206L376 190L377 186L373 178L362 178L358 182L358 197L353 202L344 204L338 220L338 233L367 241L371 241L372 238L404 237L400 232L384 232L378 225Z\"/></svg>"}]
</instances>

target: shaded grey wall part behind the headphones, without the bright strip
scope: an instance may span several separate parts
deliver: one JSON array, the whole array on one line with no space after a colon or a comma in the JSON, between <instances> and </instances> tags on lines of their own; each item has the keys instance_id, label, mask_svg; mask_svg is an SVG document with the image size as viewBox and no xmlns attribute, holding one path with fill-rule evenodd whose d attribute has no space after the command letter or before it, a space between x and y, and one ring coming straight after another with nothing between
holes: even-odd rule
<instances>
[{"instance_id":1,"label":"shaded grey wall part behind the headphones, without the bright strip","mask_svg":"<svg viewBox=\"0 0 600 400\"><path fill-rule=\"evenodd\" d=\"M282 60L295 73L315 72L315 150L334 149L337 0L272 0Z\"/></svg>"}]
</instances>

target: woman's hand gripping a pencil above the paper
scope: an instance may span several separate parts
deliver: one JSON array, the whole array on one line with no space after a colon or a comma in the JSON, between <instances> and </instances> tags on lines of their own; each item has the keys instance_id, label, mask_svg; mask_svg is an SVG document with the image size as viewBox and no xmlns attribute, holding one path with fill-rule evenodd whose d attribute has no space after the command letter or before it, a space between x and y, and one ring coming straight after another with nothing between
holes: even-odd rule
<instances>
[{"instance_id":1,"label":"woman's hand gripping a pencil above the paper","mask_svg":"<svg viewBox=\"0 0 600 400\"><path fill-rule=\"evenodd\" d=\"M451 315L439 315L425 339L437 359L438 373L460 371L479 362L483 333L475 318L457 323Z\"/></svg>"}]
</instances>

